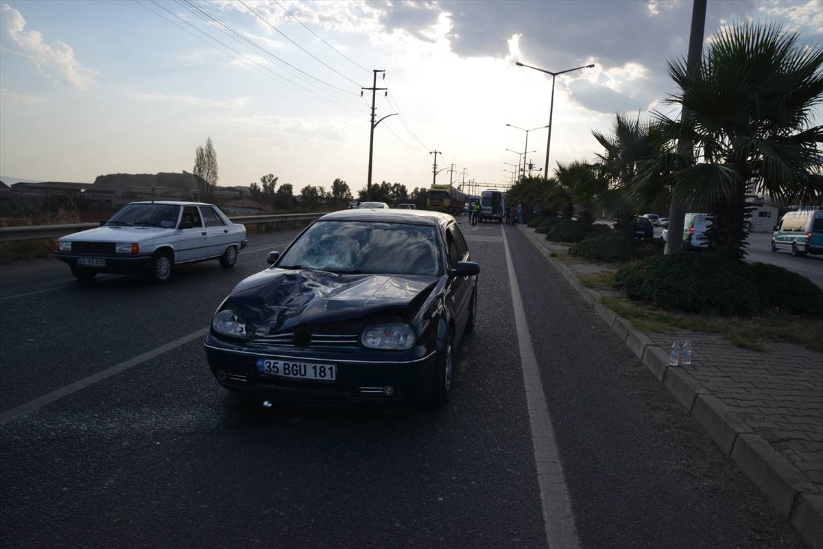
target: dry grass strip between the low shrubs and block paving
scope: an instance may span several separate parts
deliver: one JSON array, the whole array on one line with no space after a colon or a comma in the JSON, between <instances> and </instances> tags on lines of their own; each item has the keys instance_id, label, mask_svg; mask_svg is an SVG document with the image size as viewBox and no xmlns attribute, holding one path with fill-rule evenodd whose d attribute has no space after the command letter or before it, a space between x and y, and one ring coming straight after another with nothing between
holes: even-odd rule
<instances>
[{"instance_id":1,"label":"dry grass strip between the low shrubs and block paving","mask_svg":"<svg viewBox=\"0 0 823 549\"><path fill-rule=\"evenodd\" d=\"M582 281L581 281L582 284ZM823 320L790 314L761 314L750 318L718 317L662 311L621 298L602 296L603 305L629 319L641 332L667 332L672 328L696 333L718 333L735 347L765 351L771 341L797 343L823 352Z\"/></svg>"}]
</instances>

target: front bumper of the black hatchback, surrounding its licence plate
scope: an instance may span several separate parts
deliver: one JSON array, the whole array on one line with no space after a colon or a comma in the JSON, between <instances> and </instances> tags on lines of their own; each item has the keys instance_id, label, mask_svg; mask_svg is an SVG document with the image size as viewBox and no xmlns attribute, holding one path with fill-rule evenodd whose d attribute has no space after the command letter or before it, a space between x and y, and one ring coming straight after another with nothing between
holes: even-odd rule
<instances>
[{"instance_id":1,"label":"front bumper of the black hatchback, surrounding its licence plate","mask_svg":"<svg viewBox=\"0 0 823 549\"><path fill-rule=\"evenodd\" d=\"M218 384L281 404L391 405L424 398L435 388L437 351L407 361L360 360L351 354L345 354L345 359L336 359L309 349L235 346L212 333L206 337L205 347L209 368ZM258 374L258 358L334 363L337 379L319 381ZM391 394L384 393L387 387L391 388Z\"/></svg>"}]
</instances>

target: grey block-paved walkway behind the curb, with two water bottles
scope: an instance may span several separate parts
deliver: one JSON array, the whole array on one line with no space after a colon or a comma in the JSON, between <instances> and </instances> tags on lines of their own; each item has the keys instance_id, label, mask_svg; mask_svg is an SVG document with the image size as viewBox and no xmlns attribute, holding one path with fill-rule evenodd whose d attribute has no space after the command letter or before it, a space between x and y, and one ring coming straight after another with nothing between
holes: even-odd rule
<instances>
[{"instance_id":1,"label":"grey block-paved walkway behind the curb, with two water bottles","mask_svg":"<svg viewBox=\"0 0 823 549\"><path fill-rule=\"evenodd\" d=\"M519 228L550 253L563 255L568 249L547 242L533 229ZM576 275L615 268L574 262L565 267ZM796 467L811 483L812 493L823 495L823 354L782 342L770 343L769 351L749 351L718 334L686 330L646 335L651 345L666 352L674 340L690 340L692 362L681 370Z\"/></svg>"}]
</instances>

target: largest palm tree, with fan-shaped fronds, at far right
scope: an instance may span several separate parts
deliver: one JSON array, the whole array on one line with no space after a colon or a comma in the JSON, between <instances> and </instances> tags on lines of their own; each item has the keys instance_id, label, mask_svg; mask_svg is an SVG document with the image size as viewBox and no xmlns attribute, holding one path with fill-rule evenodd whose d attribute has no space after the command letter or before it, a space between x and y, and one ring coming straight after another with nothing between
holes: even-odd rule
<instances>
[{"instance_id":1,"label":"largest palm tree, with fan-shaped fronds, at far right","mask_svg":"<svg viewBox=\"0 0 823 549\"><path fill-rule=\"evenodd\" d=\"M785 204L823 202L823 126L811 127L823 100L823 46L804 45L774 24L744 23L718 30L699 65L668 64L686 123L655 113L667 151L644 166L635 190L673 176L673 193L712 216L709 247L742 258L747 198L768 193ZM696 163L674 151L677 138L694 143Z\"/></svg>"}]
</instances>

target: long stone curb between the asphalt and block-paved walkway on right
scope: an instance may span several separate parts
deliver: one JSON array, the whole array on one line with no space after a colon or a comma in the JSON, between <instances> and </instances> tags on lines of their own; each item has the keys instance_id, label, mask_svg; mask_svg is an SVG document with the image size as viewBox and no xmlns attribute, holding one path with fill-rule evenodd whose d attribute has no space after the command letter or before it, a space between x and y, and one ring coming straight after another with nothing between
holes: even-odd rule
<instances>
[{"instance_id":1,"label":"long stone curb between the asphalt and block-paved walkway on right","mask_svg":"<svg viewBox=\"0 0 823 549\"><path fill-rule=\"evenodd\" d=\"M603 322L635 353L654 378L686 407L723 454L731 457L751 478L766 500L792 523L808 546L823 549L823 495L814 492L807 477L688 371L669 367L667 350L655 345L646 334L632 328L629 320L603 305L597 292L582 286L570 268L551 257L535 233L523 226L518 228L586 303L593 306Z\"/></svg>"}]
</instances>

